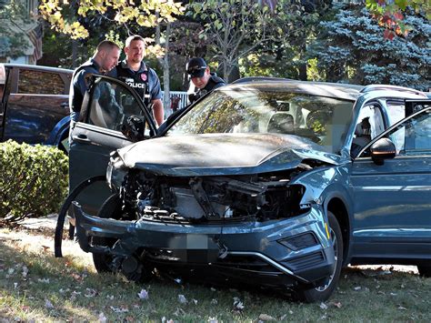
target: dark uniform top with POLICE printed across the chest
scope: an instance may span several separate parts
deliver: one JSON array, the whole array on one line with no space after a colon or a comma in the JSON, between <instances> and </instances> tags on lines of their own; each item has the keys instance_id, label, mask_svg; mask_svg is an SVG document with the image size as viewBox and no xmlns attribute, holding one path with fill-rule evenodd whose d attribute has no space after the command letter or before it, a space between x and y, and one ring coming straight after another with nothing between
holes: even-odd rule
<instances>
[{"instance_id":1,"label":"dark uniform top with POLICE printed across the chest","mask_svg":"<svg viewBox=\"0 0 431 323\"><path fill-rule=\"evenodd\" d=\"M162 90L160 81L155 74L155 70L141 62L141 66L137 71L129 68L124 60L117 65L109 76L115 77L126 85L133 87L138 96L140 96L145 104L149 106L152 100L162 98Z\"/></svg>"}]
</instances>

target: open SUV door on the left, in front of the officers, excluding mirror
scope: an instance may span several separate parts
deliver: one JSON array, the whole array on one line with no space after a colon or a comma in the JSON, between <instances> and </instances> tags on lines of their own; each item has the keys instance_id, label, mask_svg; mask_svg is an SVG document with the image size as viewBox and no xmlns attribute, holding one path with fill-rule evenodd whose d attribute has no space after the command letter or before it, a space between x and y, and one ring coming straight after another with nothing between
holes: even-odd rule
<instances>
[{"instance_id":1,"label":"open SUV door on the left, in front of the officers, excluding mirror","mask_svg":"<svg viewBox=\"0 0 431 323\"><path fill-rule=\"evenodd\" d=\"M135 91L125 83L107 76L93 76L85 94L80 121L72 130L69 151L69 188L72 191L89 177L105 175L109 154L132 144L121 128L135 116L145 124L145 138L155 134L155 123ZM96 183L80 194L78 201L95 214L109 195L105 183Z\"/></svg>"}]
</instances>

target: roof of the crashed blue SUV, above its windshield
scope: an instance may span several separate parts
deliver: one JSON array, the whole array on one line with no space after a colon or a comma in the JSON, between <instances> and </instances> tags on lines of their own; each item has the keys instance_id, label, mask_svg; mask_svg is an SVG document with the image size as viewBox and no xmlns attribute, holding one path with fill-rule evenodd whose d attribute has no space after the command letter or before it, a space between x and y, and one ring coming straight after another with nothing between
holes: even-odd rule
<instances>
[{"instance_id":1,"label":"roof of the crashed blue SUV, above its windshield","mask_svg":"<svg viewBox=\"0 0 431 323\"><path fill-rule=\"evenodd\" d=\"M413 88L402 86L389 86L389 85L370 85L370 86L357 86L342 83L329 83L329 82L309 82L297 81L288 78L277 77L245 77L228 86L220 87L220 91L237 90L288 90L296 93L310 94L315 96L328 96L346 100L356 100L359 96L366 95L371 97L376 95L378 97L395 96L395 97L426 97L426 94L417 91Z\"/></svg>"}]
</instances>

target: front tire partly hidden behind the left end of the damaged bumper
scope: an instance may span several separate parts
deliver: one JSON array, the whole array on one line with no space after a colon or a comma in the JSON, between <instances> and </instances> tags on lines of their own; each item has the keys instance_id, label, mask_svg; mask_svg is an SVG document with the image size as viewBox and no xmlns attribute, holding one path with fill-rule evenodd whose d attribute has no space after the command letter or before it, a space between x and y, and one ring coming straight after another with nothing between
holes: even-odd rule
<instances>
[{"instance_id":1,"label":"front tire partly hidden behind the left end of the damaged bumper","mask_svg":"<svg viewBox=\"0 0 431 323\"><path fill-rule=\"evenodd\" d=\"M97 212L97 217L119 219L121 217L121 207L120 197L118 194L113 194L106 198L104 204ZM93 237L93 244L99 246L112 247L114 246L115 241L116 240L112 238ZM113 257L109 255L93 253L93 263L95 264L95 270L97 270L98 273L112 273L113 270L110 266L112 261Z\"/></svg>"}]
</instances>

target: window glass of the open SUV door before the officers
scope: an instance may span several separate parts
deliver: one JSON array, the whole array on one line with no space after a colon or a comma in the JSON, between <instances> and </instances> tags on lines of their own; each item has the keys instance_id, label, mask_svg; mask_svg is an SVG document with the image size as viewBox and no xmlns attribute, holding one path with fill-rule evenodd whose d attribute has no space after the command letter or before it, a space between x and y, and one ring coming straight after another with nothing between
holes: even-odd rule
<instances>
[{"instance_id":1,"label":"window glass of the open SUV door before the officers","mask_svg":"<svg viewBox=\"0 0 431 323\"><path fill-rule=\"evenodd\" d=\"M125 120L130 116L145 120L144 112L130 90L104 79L95 84L89 110L87 122L90 125L115 131L121 131ZM148 126L145 126L145 131L148 132L145 135L149 135Z\"/></svg>"}]
</instances>

